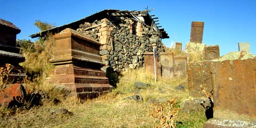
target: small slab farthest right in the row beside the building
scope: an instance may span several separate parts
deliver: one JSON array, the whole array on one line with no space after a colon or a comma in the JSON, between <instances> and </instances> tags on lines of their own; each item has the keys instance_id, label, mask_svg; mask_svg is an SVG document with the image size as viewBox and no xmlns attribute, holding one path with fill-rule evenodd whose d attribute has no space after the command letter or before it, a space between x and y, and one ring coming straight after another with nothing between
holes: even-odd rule
<instances>
[{"instance_id":1,"label":"small slab farthest right in the row beside the building","mask_svg":"<svg viewBox=\"0 0 256 128\"><path fill-rule=\"evenodd\" d=\"M187 74L187 57L174 56L173 61L173 75L175 77Z\"/></svg>"}]
</instances>

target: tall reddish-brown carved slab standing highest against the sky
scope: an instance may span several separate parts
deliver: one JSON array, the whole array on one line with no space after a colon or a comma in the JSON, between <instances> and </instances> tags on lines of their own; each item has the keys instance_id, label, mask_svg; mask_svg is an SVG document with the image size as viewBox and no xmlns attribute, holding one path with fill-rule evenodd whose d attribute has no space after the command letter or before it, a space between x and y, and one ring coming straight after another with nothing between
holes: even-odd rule
<instances>
[{"instance_id":1,"label":"tall reddish-brown carved slab standing highest against the sky","mask_svg":"<svg viewBox=\"0 0 256 128\"><path fill-rule=\"evenodd\" d=\"M204 33L204 22L193 21L191 23L190 42L202 44L203 33Z\"/></svg>"}]
</instances>

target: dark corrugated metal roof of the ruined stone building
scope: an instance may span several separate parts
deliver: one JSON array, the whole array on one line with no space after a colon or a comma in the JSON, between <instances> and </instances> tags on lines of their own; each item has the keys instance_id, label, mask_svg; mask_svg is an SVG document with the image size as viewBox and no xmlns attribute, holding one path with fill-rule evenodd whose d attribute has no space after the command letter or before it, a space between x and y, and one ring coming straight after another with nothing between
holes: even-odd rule
<instances>
[{"instance_id":1,"label":"dark corrugated metal roof of the ruined stone building","mask_svg":"<svg viewBox=\"0 0 256 128\"><path fill-rule=\"evenodd\" d=\"M55 27L52 29L48 29L48 30L44 30L44 31L40 31L39 33L30 35L31 38L35 38L35 37L39 37L39 36L44 36L47 33L60 33L60 31L62 31L63 29L66 28L72 28L72 29L77 29L79 25L83 24L85 21L86 22L94 22L95 20L101 20L103 18L107 18L109 16L125 16L125 15L138 15L138 14L142 14L142 16L148 16L150 20L154 21L150 15L148 14L147 11L121 11L121 10L102 10L100 12L94 13L86 18L71 22L71 23L67 23L65 25L59 26L59 27ZM162 38L169 38L168 34L166 33L166 31L164 30L160 30Z\"/></svg>"}]
</instances>

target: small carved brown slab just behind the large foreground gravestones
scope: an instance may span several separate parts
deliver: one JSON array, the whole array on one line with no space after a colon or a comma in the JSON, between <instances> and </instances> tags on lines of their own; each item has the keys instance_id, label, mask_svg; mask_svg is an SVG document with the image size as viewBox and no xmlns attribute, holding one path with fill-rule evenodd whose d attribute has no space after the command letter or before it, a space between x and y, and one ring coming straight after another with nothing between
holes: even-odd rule
<instances>
[{"instance_id":1,"label":"small carved brown slab just behind the large foreground gravestones","mask_svg":"<svg viewBox=\"0 0 256 128\"><path fill-rule=\"evenodd\" d=\"M205 46L204 47L204 59L213 60L220 57L220 48L219 45Z\"/></svg>"}]
</instances>

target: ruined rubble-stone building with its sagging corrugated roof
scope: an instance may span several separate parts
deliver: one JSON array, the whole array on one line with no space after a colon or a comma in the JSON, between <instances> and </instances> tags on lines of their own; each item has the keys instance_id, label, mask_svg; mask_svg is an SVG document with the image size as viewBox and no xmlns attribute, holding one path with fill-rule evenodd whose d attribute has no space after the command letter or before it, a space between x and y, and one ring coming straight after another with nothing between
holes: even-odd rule
<instances>
[{"instance_id":1,"label":"ruined rubble-stone building with its sagging corrugated roof","mask_svg":"<svg viewBox=\"0 0 256 128\"><path fill-rule=\"evenodd\" d=\"M144 53L164 52L163 38L169 38L156 23L158 18L149 11L103 10L81 20L30 35L43 37L47 33L57 34L71 28L100 42L100 55L106 67L116 71L144 65Z\"/></svg>"}]
</instances>

